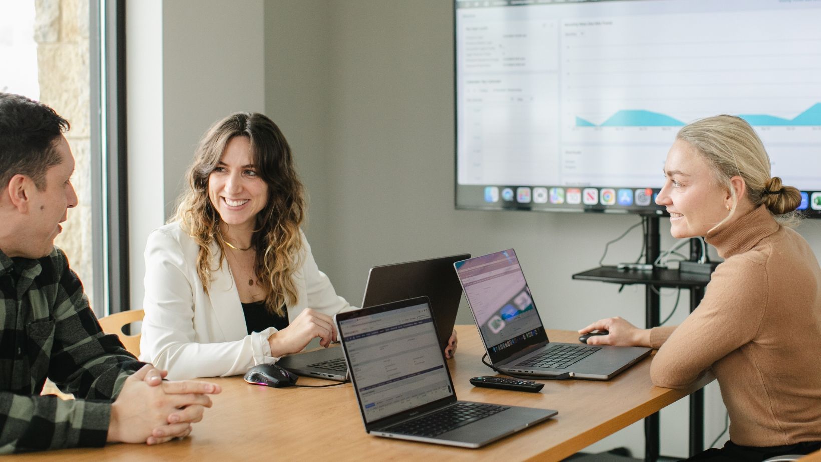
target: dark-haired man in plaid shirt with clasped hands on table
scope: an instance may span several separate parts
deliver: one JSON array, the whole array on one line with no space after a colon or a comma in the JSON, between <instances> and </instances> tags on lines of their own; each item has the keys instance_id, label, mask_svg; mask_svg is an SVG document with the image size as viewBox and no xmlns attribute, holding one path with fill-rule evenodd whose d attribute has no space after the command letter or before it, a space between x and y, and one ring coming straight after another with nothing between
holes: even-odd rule
<instances>
[{"instance_id":1,"label":"dark-haired man in plaid shirt with clasped hands on table","mask_svg":"<svg viewBox=\"0 0 821 462\"><path fill-rule=\"evenodd\" d=\"M67 130L51 108L0 94L0 454L186 437L220 391L163 382L100 330L54 247L77 204ZM39 396L46 377L76 400Z\"/></svg>"}]
</instances>

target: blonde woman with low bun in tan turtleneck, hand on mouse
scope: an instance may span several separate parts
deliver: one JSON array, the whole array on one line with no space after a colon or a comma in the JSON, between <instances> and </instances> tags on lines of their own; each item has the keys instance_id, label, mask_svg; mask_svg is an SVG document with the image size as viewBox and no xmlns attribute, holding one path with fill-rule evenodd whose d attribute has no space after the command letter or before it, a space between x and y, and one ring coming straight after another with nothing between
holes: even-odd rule
<instances>
[{"instance_id":1,"label":"blonde woman with low bun in tan turtleneck, hand on mouse","mask_svg":"<svg viewBox=\"0 0 821 462\"><path fill-rule=\"evenodd\" d=\"M704 236L725 259L698 309L678 327L643 330L621 318L593 345L658 349L658 387L683 388L704 373L718 380L730 441L692 460L765 460L821 449L821 269L790 227L800 192L770 176L764 145L738 117L681 129L667 153L656 203L677 239Z\"/></svg>"}]
</instances>

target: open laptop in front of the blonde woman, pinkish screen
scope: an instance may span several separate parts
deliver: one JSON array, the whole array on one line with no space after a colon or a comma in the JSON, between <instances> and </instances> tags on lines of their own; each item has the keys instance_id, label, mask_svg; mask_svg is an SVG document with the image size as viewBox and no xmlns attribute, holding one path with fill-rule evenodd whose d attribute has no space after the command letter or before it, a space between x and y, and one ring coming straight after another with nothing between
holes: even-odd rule
<instances>
[{"instance_id":1,"label":"open laptop in front of the blonde woman, pinkish screen","mask_svg":"<svg viewBox=\"0 0 821 462\"><path fill-rule=\"evenodd\" d=\"M551 343L513 249L454 265L493 367L533 377L610 380L649 348Z\"/></svg>"}]
</instances>

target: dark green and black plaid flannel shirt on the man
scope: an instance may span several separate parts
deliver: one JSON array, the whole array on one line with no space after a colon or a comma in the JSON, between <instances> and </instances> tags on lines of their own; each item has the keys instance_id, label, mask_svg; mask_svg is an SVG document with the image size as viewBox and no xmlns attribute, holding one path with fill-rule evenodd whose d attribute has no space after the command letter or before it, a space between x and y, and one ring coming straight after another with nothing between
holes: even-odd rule
<instances>
[{"instance_id":1,"label":"dark green and black plaid flannel shirt on the man","mask_svg":"<svg viewBox=\"0 0 821 462\"><path fill-rule=\"evenodd\" d=\"M0 251L0 454L103 446L111 403L142 365L100 330L60 249ZM39 396L46 377L76 400Z\"/></svg>"}]
</instances>

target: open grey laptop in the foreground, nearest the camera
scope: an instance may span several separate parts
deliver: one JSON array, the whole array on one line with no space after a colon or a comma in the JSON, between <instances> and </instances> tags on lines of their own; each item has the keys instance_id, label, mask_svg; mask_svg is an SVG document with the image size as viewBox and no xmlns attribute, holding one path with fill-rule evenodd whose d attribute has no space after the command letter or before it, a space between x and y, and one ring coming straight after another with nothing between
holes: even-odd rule
<instances>
[{"instance_id":1,"label":"open grey laptop in the foreground, nearest the camera","mask_svg":"<svg viewBox=\"0 0 821 462\"><path fill-rule=\"evenodd\" d=\"M557 414L456 400L426 297L334 320L371 435L476 448Z\"/></svg>"}]
</instances>

